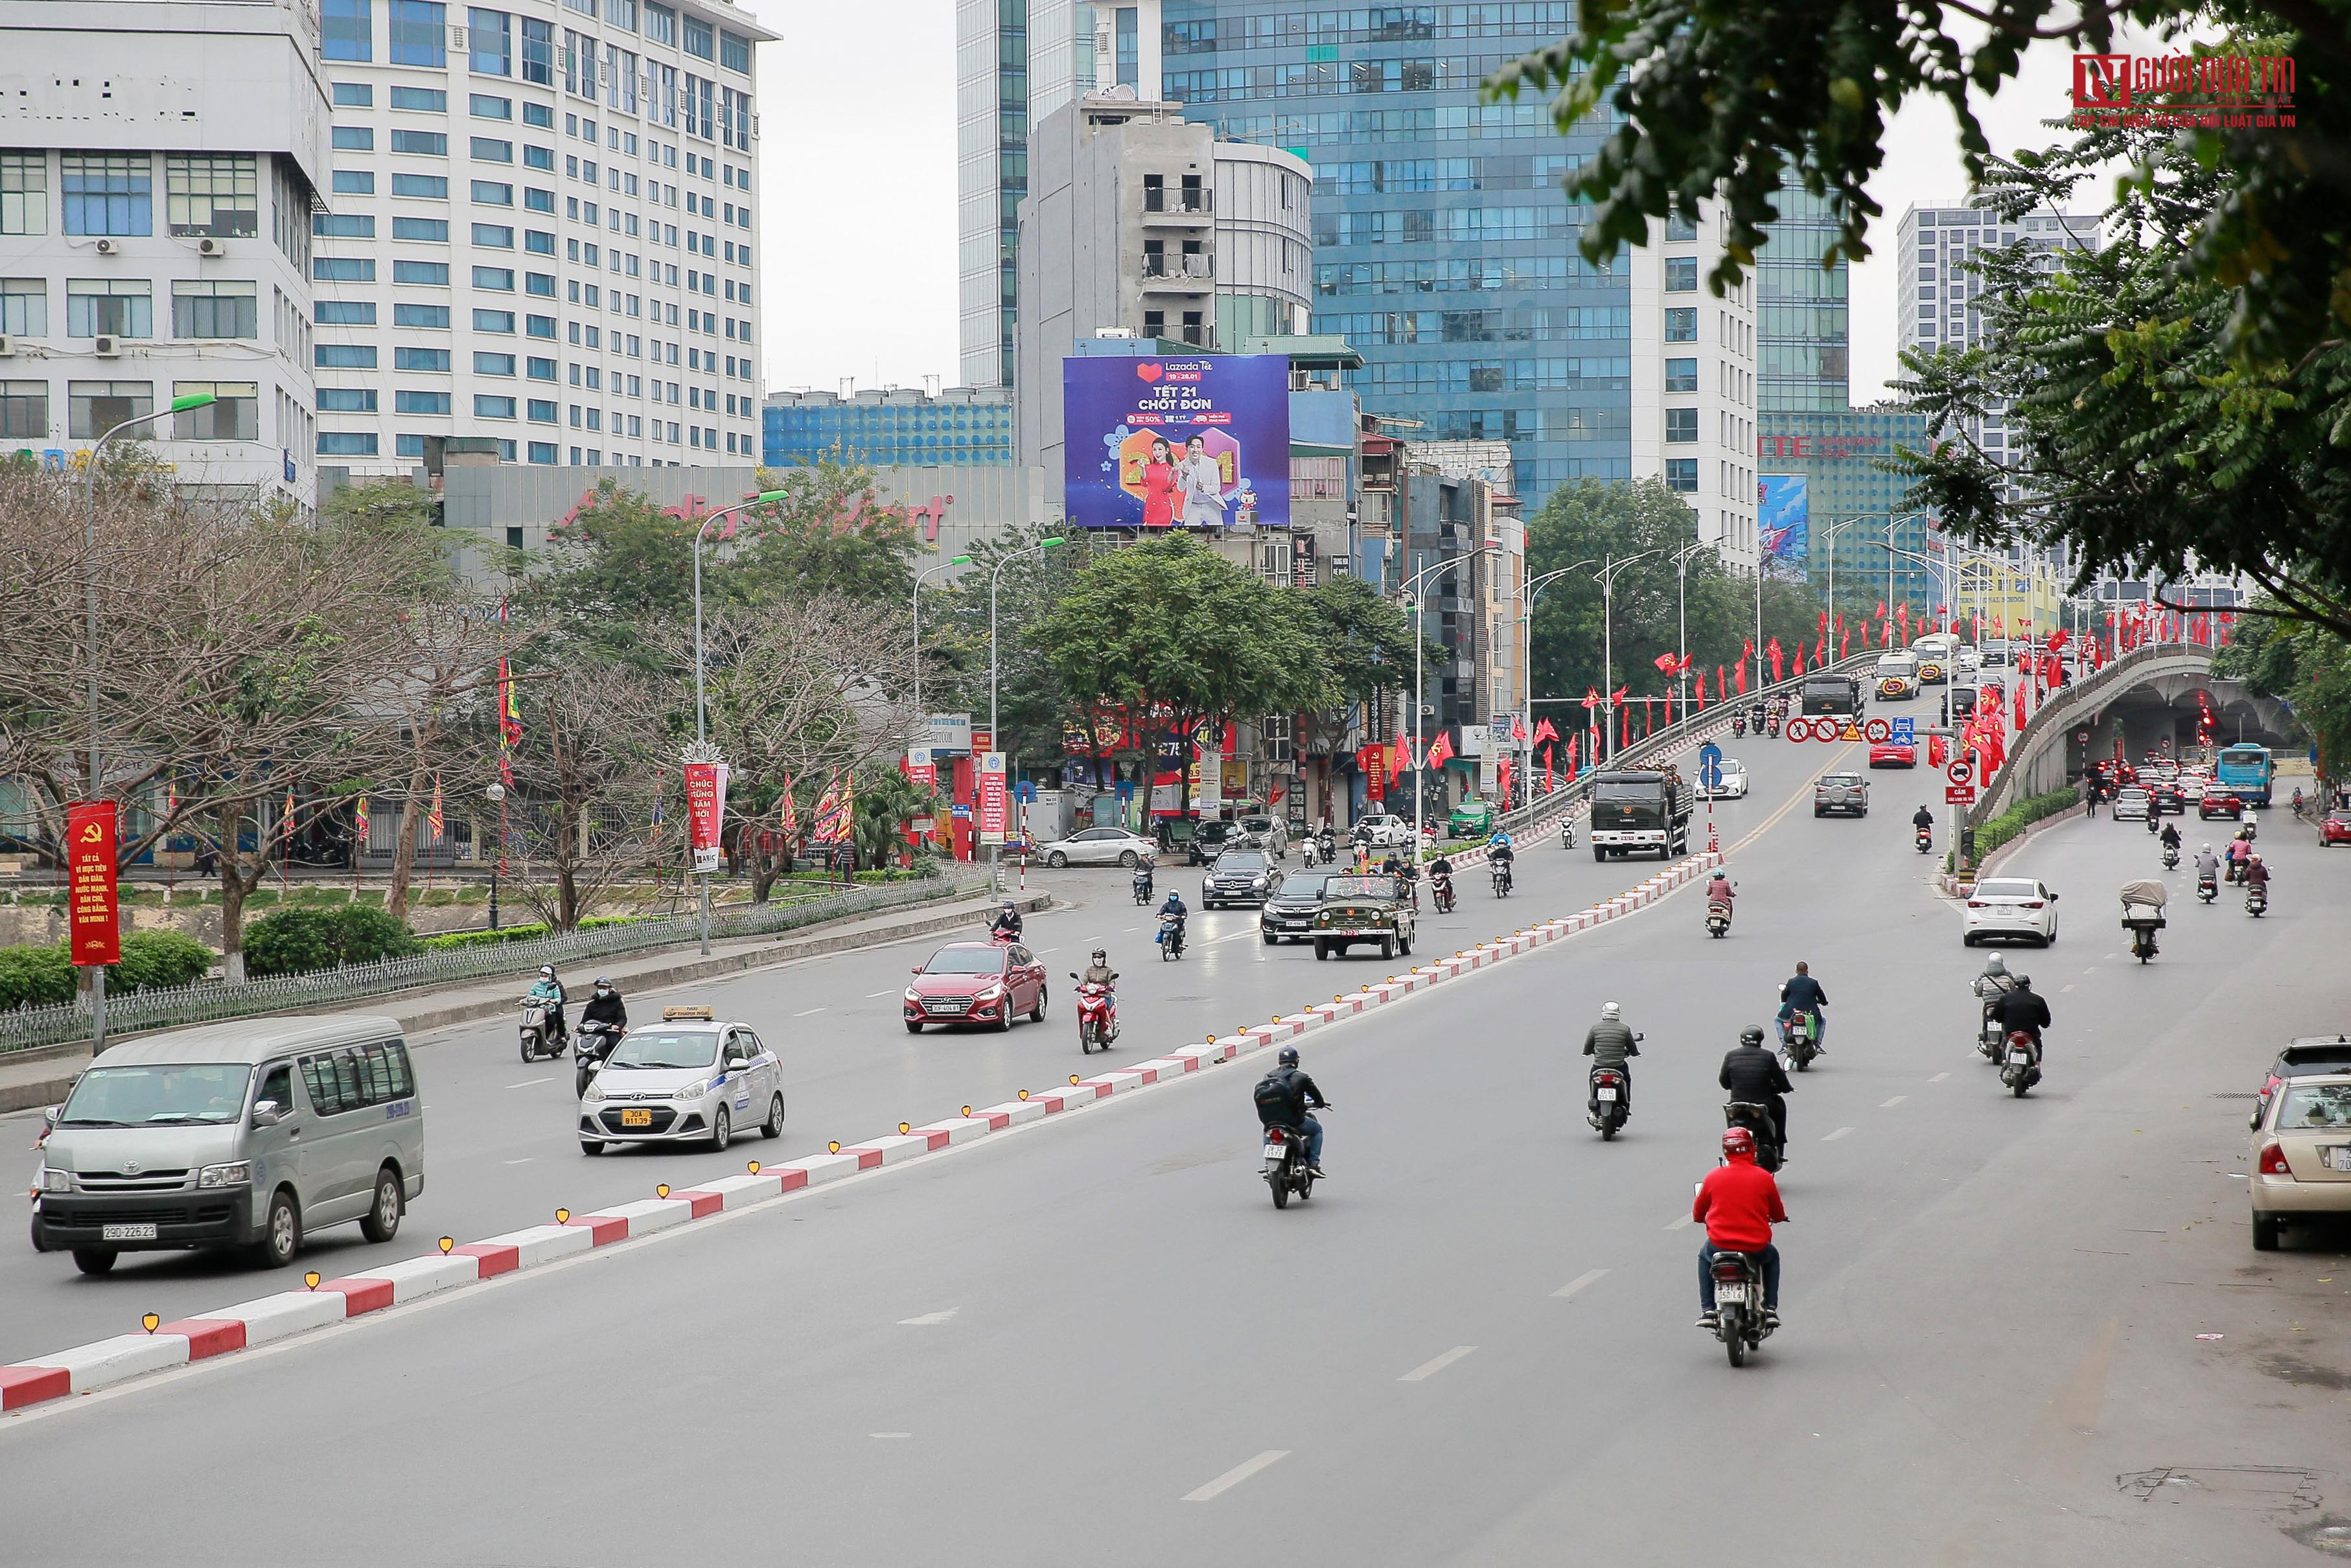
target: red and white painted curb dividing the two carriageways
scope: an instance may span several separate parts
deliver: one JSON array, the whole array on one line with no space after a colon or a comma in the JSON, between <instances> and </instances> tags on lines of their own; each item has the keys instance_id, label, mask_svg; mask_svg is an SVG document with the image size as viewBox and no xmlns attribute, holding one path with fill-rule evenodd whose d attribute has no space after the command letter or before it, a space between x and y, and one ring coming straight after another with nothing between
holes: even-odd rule
<instances>
[{"instance_id":1,"label":"red and white painted curb dividing the two carriageways","mask_svg":"<svg viewBox=\"0 0 2351 1568\"><path fill-rule=\"evenodd\" d=\"M1065 1088L1041 1093L1023 1088L1018 1100L978 1110L966 1107L959 1117L926 1121L924 1126L900 1124L903 1131L898 1133L886 1133L868 1143L842 1145L828 1154L790 1159L781 1166L762 1166L755 1161L745 1175L724 1175L679 1192L663 1187L661 1197L642 1199L637 1204L618 1204L595 1213L557 1211L557 1222L552 1225L531 1225L527 1229L513 1229L503 1237L489 1237L487 1241L473 1241L465 1246L456 1246L451 1241L444 1244L444 1251L409 1258L407 1262L369 1269L364 1274L353 1274L348 1279L320 1279L315 1286L303 1291L280 1291L277 1295L261 1295L202 1316L158 1324L146 1333L125 1333L92 1345L75 1345L73 1349L42 1356L38 1363L0 1366L0 1410L21 1410L52 1399L66 1399L68 1394L94 1394L146 1373L160 1373L174 1366L188 1366L190 1361L207 1361L212 1356L252 1349L256 1345L268 1345L270 1340L284 1340L313 1328L327 1328L329 1324L367 1316L369 1312L381 1312L386 1307L402 1307L407 1302L423 1300L426 1295L456 1291L458 1286L480 1284L517 1269L531 1269L543 1262L588 1253L616 1241L651 1237L654 1232L663 1232L675 1225L691 1225L694 1220L703 1220L729 1208L771 1204L804 1187L820 1187L825 1182L842 1180L844 1175L933 1154L950 1145L971 1143L973 1138L985 1138L987 1133L1002 1133L1004 1128L1020 1126L1025 1121L1058 1117L1063 1112L1093 1105L1096 1100L1107 1100L1119 1093L1159 1084L1161 1079L1180 1079L1187 1072L1199 1072L1201 1067L1213 1067L1218 1063L1251 1056L1253 1051L1265 1051L1310 1030L1342 1023L1359 1013L1387 1006L1389 1001L1401 1001L1404 997L1422 992L1432 985L1444 985L1458 976L1491 969L1493 964L1533 952L1535 947L1589 931L1610 919L1634 914L1721 863L1723 858L1714 851L1688 856L1648 882L1608 898L1606 903L1578 910L1575 914L1563 914L1538 926L1512 931L1509 936L1498 936L1491 943L1467 947L1448 959L1420 964L1406 973L1389 976L1378 985L1366 985L1352 994L1333 997L1331 1001L1274 1018L1270 1023L1241 1027L1232 1034L1218 1034L1199 1046L1168 1051L1166 1056L1147 1063L1100 1072L1091 1079L1077 1079ZM308 1279L310 1276L306 1276L306 1281Z\"/></svg>"}]
</instances>

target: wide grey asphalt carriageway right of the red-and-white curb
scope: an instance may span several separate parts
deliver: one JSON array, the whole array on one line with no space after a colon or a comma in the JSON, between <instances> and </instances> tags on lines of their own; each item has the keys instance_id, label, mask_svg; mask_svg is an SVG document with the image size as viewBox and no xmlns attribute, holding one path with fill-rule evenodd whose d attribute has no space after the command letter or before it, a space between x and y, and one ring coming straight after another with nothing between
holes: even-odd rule
<instances>
[{"instance_id":1,"label":"wide grey asphalt carriageway right of the red-and-white curb","mask_svg":"<svg viewBox=\"0 0 2351 1568\"><path fill-rule=\"evenodd\" d=\"M1307 1206L1255 1180L1253 1067L1211 1070L0 1422L12 1554L2313 1561L2292 1530L2351 1523L2351 1267L2342 1232L2250 1251L2245 1103L2215 1095L2351 1011L2351 858L2271 825L2273 914L2175 905L2142 969L2109 891L2146 837L2036 839L2015 870L2067 922L2020 961L2057 1013L2020 1103L1904 816L1780 818L1730 940L1681 893L1310 1037L1338 1110ZM1831 1030L1787 1328L1730 1371L1690 1328L1688 1194L1721 1048L1796 957ZM1606 997L1648 1034L1613 1145L1573 1060ZM197 1458L221 1434L233 1467ZM125 1476L136 1507L75 1502Z\"/></svg>"}]
</instances>

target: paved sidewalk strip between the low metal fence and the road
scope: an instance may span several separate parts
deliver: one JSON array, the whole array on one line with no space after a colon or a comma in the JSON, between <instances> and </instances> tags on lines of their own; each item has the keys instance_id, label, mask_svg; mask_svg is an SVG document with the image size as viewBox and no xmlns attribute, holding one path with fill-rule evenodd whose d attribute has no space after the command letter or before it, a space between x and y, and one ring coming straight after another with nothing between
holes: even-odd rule
<instances>
[{"instance_id":1,"label":"paved sidewalk strip between the low metal fence and the road","mask_svg":"<svg viewBox=\"0 0 2351 1568\"><path fill-rule=\"evenodd\" d=\"M828 952L879 947L907 936L929 936L931 931L952 931L957 926L978 929L999 903L1002 898L994 896L959 898L945 905L922 905L912 912L884 910L882 914L865 914L837 924L790 931L785 936L743 936L724 943L710 943L708 959L694 947L637 952L630 957L604 959L595 966L595 973L611 976L623 992L661 990L668 985L708 980L712 976L731 976L745 969L766 969L771 964L813 959ZM1018 903L1023 912L1034 912L1046 907L1051 898L1046 893L1020 893L1013 903ZM585 976L571 976L571 985L581 994L585 992L583 980ZM508 1013L515 1006L515 997L520 997L527 985L529 976L517 971L513 976L468 980L451 987L388 992L383 997L367 997L327 1011L383 1013L397 1018L407 1034L423 1034L426 1030ZM273 1013L256 1013L254 1018L259 1023L270 1016ZM122 1039L129 1037L118 1034L115 1044ZM21 1051L9 1058L0 1058L0 1114L35 1105L56 1105L66 1091L73 1088L75 1074L80 1074L87 1065L87 1044Z\"/></svg>"}]
</instances>

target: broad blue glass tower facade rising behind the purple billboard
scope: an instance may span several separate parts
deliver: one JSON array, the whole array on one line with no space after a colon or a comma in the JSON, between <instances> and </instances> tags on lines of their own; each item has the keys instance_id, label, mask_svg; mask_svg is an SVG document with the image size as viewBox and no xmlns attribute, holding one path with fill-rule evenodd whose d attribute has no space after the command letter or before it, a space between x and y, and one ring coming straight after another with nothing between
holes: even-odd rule
<instances>
[{"instance_id":1,"label":"broad blue glass tower facade rising behind the purple billboard","mask_svg":"<svg viewBox=\"0 0 2351 1568\"><path fill-rule=\"evenodd\" d=\"M1632 475L1627 263L1575 252L1542 94L1479 103L1500 63L1573 28L1568 0L1312 9L1168 0L1161 96L1314 165L1314 331L1364 355L1364 407L1420 440L1502 440L1533 510Z\"/></svg>"}]
</instances>

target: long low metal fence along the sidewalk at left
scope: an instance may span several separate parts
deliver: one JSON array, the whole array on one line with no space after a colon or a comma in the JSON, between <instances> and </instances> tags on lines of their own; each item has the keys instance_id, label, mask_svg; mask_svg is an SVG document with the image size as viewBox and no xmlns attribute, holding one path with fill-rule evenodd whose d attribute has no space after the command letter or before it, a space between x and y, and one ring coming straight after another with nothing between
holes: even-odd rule
<instances>
[{"instance_id":1,"label":"long low metal fence along the sidewalk at left","mask_svg":"<svg viewBox=\"0 0 2351 1568\"><path fill-rule=\"evenodd\" d=\"M773 936L797 931L828 919L877 914L917 903L964 898L990 886L990 872L964 867L945 877L919 882L889 882L860 886L846 893L828 893L792 903L750 905L722 910L710 917L710 938ZM108 1034L134 1030L162 1030L188 1023L216 1023L221 1018L249 1018L254 1013L284 1013L310 1006L334 1006L388 992L421 990L435 985L458 985L487 980L491 976L529 973L541 964L581 964L585 959L609 959L623 952L649 952L675 947L701 938L701 922L694 914L670 914L642 919L625 926L597 926L592 931L567 931L560 936L536 936L515 943L480 943L423 952L414 959L383 959L381 964L343 964L339 969L315 969L301 976L273 976L228 985L223 980L197 980L195 985L169 985L136 992L108 992ZM0 1013L0 1056L9 1051L33 1051L38 1046L61 1046L89 1039L89 1001L75 999L56 1006L28 1006Z\"/></svg>"}]
</instances>

